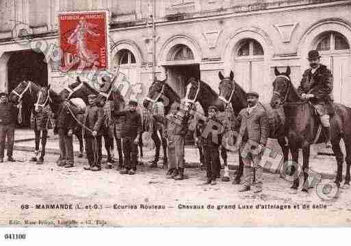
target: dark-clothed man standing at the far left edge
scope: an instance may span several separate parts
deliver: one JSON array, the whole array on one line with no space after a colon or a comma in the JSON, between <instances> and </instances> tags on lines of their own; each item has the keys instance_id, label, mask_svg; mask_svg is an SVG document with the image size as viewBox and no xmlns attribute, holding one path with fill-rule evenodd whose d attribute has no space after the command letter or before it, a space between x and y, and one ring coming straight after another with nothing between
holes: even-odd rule
<instances>
[{"instance_id":1,"label":"dark-clothed man standing at the far left edge","mask_svg":"<svg viewBox=\"0 0 351 246\"><path fill-rule=\"evenodd\" d=\"M8 138L8 161L14 162L14 127L17 120L17 108L8 100L6 93L0 93L0 162L3 162L5 138Z\"/></svg>"}]
</instances>

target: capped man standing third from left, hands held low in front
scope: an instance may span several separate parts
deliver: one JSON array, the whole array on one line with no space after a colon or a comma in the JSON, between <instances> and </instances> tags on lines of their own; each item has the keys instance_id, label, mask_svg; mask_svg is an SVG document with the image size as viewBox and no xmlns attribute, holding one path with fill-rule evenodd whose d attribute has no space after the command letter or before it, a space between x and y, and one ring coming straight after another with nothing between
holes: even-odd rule
<instances>
[{"instance_id":1,"label":"capped man standing third from left, hands held low in front","mask_svg":"<svg viewBox=\"0 0 351 246\"><path fill-rule=\"evenodd\" d=\"M98 99L94 94L88 95L89 105L86 107L84 115L84 138L86 139L88 165L84 166L83 169L91 171L101 170L101 136L105 117Z\"/></svg>"}]
</instances>

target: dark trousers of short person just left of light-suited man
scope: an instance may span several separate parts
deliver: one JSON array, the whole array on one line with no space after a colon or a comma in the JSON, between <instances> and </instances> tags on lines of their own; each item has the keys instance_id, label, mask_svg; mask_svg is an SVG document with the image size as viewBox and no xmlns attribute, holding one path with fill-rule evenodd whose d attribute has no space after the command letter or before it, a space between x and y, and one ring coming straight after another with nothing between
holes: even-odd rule
<instances>
[{"instance_id":1,"label":"dark trousers of short person just left of light-suited man","mask_svg":"<svg viewBox=\"0 0 351 246\"><path fill-rule=\"evenodd\" d=\"M216 180L220 173L220 151L216 145L203 145L207 178Z\"/></svg>"}]
</instances>

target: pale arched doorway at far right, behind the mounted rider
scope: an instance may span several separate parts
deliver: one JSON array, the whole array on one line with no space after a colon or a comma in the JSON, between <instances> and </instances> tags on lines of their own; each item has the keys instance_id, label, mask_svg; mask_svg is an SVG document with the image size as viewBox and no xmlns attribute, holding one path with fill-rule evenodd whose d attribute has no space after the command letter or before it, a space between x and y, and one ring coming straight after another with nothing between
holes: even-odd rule
<instances>
[{"instance_id":1,"label":"pale arched doorway at far right, behind the mounted rider","mask_svg":"<svg viewBox=\"0 0 351 246\"><path fill-rule=\"evenodd\" d=\"M320 52L322 64L333 73L334 101L351 106L350 45L346 37L338 32L324 32L315 38L312 48Z\"/></svg>"}]
</instances>

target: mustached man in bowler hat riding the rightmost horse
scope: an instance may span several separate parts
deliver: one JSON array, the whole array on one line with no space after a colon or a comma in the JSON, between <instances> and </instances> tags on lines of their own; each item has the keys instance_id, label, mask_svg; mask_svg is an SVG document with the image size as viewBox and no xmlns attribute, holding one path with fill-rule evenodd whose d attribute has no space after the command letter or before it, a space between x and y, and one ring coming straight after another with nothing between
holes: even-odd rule
<instances>
[{"instance_id":1,"label":"mustached man in bowler hat riding the rightmost horse","mask_svg":"<svg viewBox=\"0 0 351 246\"><path fill-rule=\"evenodd\" d=\"M326 134L326 147L330 148L330 115L335 113L333 108L333 74L320 63L320 53L309 51L310 68L304 71L298 93L302 99L311 101L320 115L320 121Z\"/></svg>"}]
</instances>

